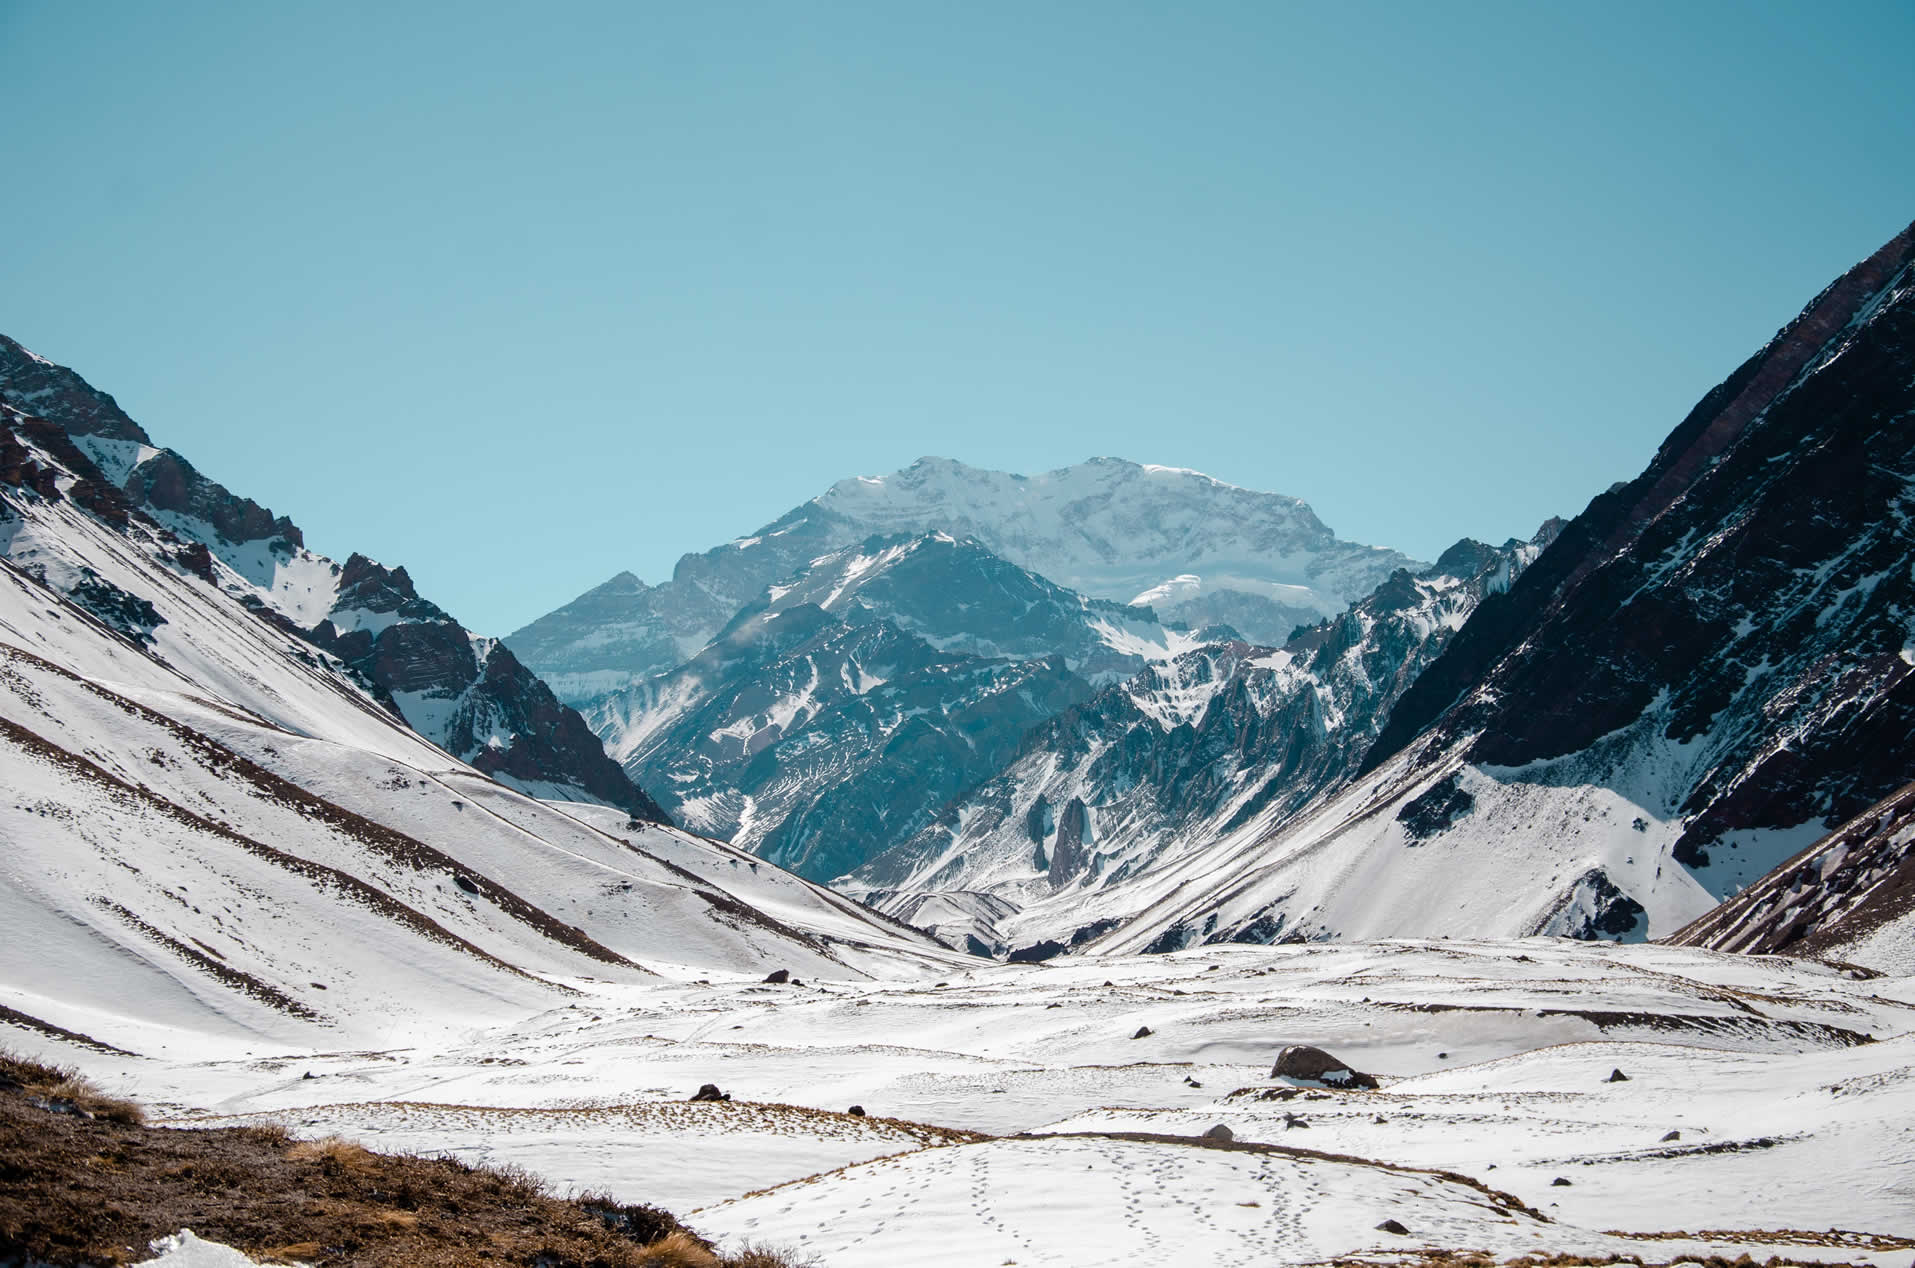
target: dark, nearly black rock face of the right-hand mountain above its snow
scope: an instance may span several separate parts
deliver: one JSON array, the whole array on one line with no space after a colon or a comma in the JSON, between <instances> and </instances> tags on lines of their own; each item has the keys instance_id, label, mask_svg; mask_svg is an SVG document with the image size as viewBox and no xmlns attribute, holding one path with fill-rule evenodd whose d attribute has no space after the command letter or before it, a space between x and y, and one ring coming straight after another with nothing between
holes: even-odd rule
<instances>
[{"instance_id":1,"label":"dark, nearly black rock face of the right-hand mountain above its snow","mask_svg":"<svg viewBox=\"0 0 1915 1268\"><path fill-rule=\"evenodd\" d=\"M1836 824L1900 787L1915 770L1911 262L1904 232L1597 496L1404 693L1365 768L1467 741L1486 766L1588 755L1622 780L1651 747L1695 743L1670 806L1691 868L1727 833Z\"/></svg>"}]
</instances>

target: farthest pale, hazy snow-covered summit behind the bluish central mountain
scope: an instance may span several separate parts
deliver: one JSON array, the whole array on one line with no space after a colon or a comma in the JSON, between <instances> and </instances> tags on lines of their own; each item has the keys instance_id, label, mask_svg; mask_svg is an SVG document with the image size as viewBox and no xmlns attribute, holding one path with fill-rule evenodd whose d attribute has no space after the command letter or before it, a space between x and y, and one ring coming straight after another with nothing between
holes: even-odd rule
<instances>
[{"instance_id":1,"label":"farthest pale, hazy snow-covered summit behind the bluish central mountain","mask_svg":"<svg viewBox=\"0 0 1915 1268\"><path fill-rule=\"evenodd\" d=\"M1183 626L1283 642L1421 563L1337 538L1300 500L1197 471L1093 458L1044 475L921 458L856 477L751 536L686 555L661 586L630 573L507 636L561 699L642 682L695 655L812 559L871 536L942 532L1093 600Z\"/></svg>"}]
</instances>

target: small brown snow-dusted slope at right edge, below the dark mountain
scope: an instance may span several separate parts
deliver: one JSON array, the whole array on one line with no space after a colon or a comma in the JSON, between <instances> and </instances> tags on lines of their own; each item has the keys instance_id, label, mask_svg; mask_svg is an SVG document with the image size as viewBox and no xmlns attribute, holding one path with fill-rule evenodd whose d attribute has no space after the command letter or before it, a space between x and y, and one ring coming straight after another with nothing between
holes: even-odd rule
<instances>
[{"instance_id":1,"label":"small brown snow-dusted slope at right edge, below the dark mountain","mask_svg":"<svg viewBox=\"0 0 1915 1268\"><path fill-rule=\"evenodd\" d=\"M1670 942L1867 963L1867 940L1894 933L1915 942L1915 783L1848 820Z\"/></svg>"}]
</instances>

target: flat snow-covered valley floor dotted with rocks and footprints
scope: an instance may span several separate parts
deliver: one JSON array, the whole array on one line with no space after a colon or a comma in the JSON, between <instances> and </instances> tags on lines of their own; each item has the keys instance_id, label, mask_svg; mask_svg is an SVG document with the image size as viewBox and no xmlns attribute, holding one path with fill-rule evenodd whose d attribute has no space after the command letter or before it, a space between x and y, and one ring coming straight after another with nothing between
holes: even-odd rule
<instances>
[{"instance_id":1,"label":"flat snow-covered valley floor dotted with rocks and footprints","mask_svg":"<svg viewBox=\"0 0 1915 1268\"><path fill-rule=\"evenodd\" d=\"M8 1042L165 1122L519 1163L829 1268L1423 1249L1904 1268L1915 1247L1915 979L1530 939L571 985L574 1004L389 1052ZM1273 1080L1285 1044L1381 1088ZM687 1103L707 1082L733 1099ZM1216 1124L1235 1142L1195 1140Z\"/></svg>"}]
</instances>

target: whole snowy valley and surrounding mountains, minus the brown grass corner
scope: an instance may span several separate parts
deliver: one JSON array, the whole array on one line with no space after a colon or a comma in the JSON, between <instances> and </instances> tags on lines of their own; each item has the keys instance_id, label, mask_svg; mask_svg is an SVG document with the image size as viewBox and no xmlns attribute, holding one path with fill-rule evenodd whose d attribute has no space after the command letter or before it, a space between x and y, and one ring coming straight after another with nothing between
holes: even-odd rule
<instances>
[{"instance_id":1,"label":"whole snowy valley and surrounding mountains, minus the brown grass corner","mask_svg":"<svg viewBox=\"0 0 1915 1268\"><path fill-rule=\"evenodd\" d=\"M494 640L0 341L0 1044L831 1268L1904 1264L1911 412L1915 228L1530 536L921 460Z\"/></svg>"}]
</instances>

